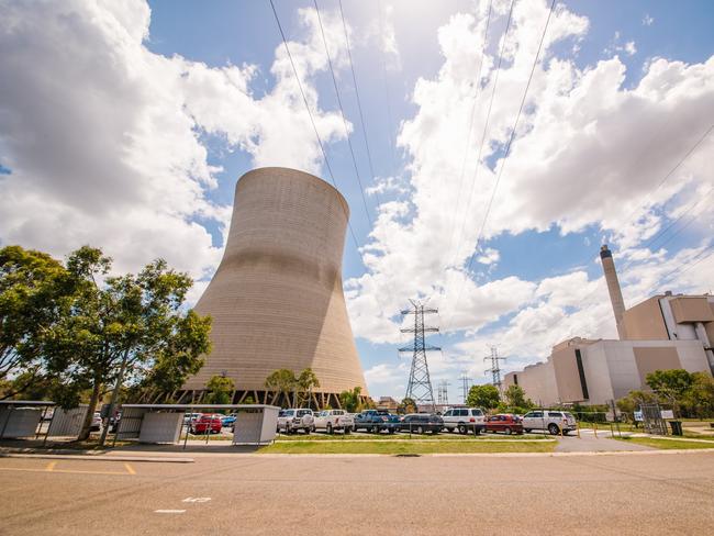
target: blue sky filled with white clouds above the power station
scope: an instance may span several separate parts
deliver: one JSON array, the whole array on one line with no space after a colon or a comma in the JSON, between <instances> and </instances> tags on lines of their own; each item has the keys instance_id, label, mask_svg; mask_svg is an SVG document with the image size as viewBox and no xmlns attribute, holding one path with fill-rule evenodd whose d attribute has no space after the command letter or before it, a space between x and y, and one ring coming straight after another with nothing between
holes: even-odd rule
<instances>
[{"instance_id":1,"label":"blue sky filled with white clouds above the power station","mask_svg":"<svg viewBox=\"0 0 714 536\"><path fill-rule=\"evenodd\" d=\"M410 299L455 402L491 345L616 336L601 244L627 306L714 287L714 3L274 4L300 85L269 0L0 0L0 245L163 257L194 302L244 172L330 180L312 115L372 397L404 395Z\"/></svg>"}]
</instances>

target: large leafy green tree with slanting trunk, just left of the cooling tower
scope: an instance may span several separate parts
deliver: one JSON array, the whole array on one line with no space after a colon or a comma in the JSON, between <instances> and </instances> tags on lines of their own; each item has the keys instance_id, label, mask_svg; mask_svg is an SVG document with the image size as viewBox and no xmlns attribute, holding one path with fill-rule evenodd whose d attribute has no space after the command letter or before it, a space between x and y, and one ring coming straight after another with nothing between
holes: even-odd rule
<instances>
[{"instance_id":1,"label":"large leafy green tree with slanting trunk, just left of the cooling tower","mask_svg":"<svg viewBox=\"0 0 714 536\"><path fill-rule=\"evenodd\" d=\"M138 275L110 277L111 266L111 258L89 246L69 256L71 303L45 336L48 372L75 391L91 390L80 440L89 436L104 388L118 392L125 381L140 383L154 365L166 369L167 360L182 367L179 376L198 370L200 356L210 351L210 319L183 309L192 286L188 275L161 259ZM65 400L66 405L78 402Z\"/></svg>"}]
</instances>

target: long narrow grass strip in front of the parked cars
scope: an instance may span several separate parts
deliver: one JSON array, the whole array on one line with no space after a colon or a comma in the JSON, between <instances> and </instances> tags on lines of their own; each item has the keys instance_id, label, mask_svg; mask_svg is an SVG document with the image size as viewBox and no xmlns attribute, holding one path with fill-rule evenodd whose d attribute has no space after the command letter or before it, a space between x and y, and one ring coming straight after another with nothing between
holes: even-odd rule
<instances>
[{"instance_id":1,"label":"long narrow grass strip in front of the parked cars","mask_svg":"<svg viewBox=\"0 0 714 536\"><path fill-rule=\"evenodd\" d=\"M556 442L294 442L275 443L259 454L470 454L470 453L553 453Z\"/></svg>"}]
</instances>

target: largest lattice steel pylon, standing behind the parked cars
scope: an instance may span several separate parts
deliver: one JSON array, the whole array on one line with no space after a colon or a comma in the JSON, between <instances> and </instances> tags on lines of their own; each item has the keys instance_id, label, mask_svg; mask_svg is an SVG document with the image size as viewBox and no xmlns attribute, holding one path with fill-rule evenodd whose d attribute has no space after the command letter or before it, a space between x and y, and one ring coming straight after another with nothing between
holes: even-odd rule
<instances>
[{"instance_id":1,"label":"largest lattice steel pylon, standing behind the parked cars","mask_svg":"<svg viewBox=\"0 0 714 536\"><path fill-rule=\"evenodd\" d=\"M432 389L432 379L428 375L428 362L426 361L427 351L437 351L442 348L427 345L425 340L425 333L438 332L438 327L425 326L424 315L436 314L437 309L426 309L423 303L410 300L413 309L402 311L403 315L414 315L414 327L405 327L401 330L402 333L413 333L414 343L412 346L400 348L399 351L412 353L412 367L409 373L409 384L406 386L405 398L410 398L416 402L416 405L431 406L432 411L436 411L434 405L434 390Z\"/></svg>"}]
</instances>

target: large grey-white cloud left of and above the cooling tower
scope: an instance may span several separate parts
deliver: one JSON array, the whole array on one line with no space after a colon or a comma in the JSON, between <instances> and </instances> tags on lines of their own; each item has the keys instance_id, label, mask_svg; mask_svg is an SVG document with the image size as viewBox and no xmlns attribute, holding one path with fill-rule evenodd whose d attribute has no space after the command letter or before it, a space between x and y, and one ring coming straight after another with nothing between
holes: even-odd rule
<instances>
[{"instance_id":1,"label":"large grey-white cloud left of and above the cooling tower","mask_svg":"<svg viewBox=\"0 0 714 536\"><path fill-rule=\"evenodd\" d=\"M90 243L136 269L155 257L210 276L221 247L203 223L225 231L230 206L208 198L211 167L201 133L224 136L256 166L317 171L320 152L282 44L275 87L252 94L252 65L209 68L144 45L146 2L2 2L0 26L0 239L64 255ZM306 37L290 43L317 129L344 136L323 112L313 77L326 68L314 10ZM344 62L333 14L331 53ZM62 46L57 45L62 43ZM11 76L10 76L11 74ZM199 223L202 222L202 223Z\"/></svg>"}]
</instances>

